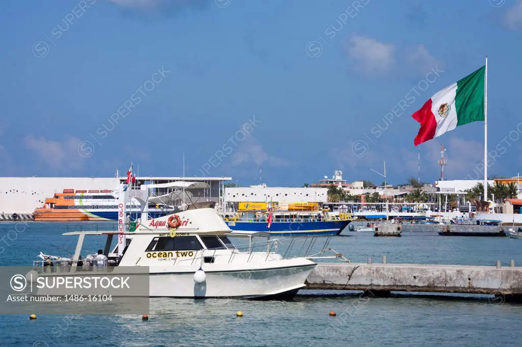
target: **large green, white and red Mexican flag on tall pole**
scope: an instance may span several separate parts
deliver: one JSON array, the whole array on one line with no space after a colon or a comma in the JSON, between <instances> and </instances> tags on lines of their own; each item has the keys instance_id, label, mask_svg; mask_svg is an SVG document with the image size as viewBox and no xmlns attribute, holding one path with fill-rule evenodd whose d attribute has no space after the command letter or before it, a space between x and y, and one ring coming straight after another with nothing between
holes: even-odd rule
<instances>
[{"instance_id":1,"label":"large green, white and red Mexican flag on tall pole","mask_svg":"<svg viewBox=\"0 0 522 347\"><path fill-rule=\"evenodd\" d=\"M484 120L485 65L433 95L411 117L421 123L414 144L426 142L458 126Z\"/></svg>"}]
</instances>

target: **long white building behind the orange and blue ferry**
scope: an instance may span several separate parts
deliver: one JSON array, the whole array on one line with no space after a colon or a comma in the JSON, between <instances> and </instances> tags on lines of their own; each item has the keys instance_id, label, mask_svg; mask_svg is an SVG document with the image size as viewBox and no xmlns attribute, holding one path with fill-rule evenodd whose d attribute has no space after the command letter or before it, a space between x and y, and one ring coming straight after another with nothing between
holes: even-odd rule
<instances>
[{"instance_id":1,"label":"long white building behind the orange and blue ferry","mask_svg":"<svg viewBox=\"0 0 522 347\"><path fill-rule=\"evenodd\" d=\"M48 197L64 189L102 190L118 189L126 177L0 177L0 213L32 214L34 209L42 207ZM193 194L199 201L221 199L221 184L231 177L139 177L138 187L147 183L169 183L174 181L196 181L209 184L210 188L196 190ZM161 194L162 192L157 192ZM204 198L205 200L201 200ZM217 204L218 205L218 204Z\"/></svg>"}]
</instances>

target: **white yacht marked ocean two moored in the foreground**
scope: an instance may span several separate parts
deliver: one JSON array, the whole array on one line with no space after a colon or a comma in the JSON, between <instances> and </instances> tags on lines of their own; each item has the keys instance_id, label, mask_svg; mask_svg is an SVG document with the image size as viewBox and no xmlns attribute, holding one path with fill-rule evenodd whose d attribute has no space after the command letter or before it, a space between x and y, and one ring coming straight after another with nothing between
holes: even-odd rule
<instances>
[{"instance_id":1,"label":"white yacht marked ocean two moored in the foreground","mask_svg":"<svg viewBox=\"0 0 522 347\"><path fill-rule=\"evenodd\" d=\"M144 200L147 206L147 198ZM277 240L268 240L263 250L252 244L239 249L229 237L259 233L232 231L213 204L185 205L174 214L152 220L146 219L145 212L135 230L65 233L79 237L74 256L54 257L52 268L43 266L45 261L34 262L38 274L31 272L37 277L92 276L89 257L80 257L82 244L87 236L105 235L108 240L103 253L108 257L108 266L104 271L119 276L128 274L128 269L148 267L147 274L141 276L148 276L150 297L293 298L317 265L314 257L283 258L275 251ZM118 242L109 252L114 234ZM57 265L62 266L55 269ZM135 271L131 272L136 276ZM37 295L45 294L38 290Z\"/></svg>"}]
</instances>

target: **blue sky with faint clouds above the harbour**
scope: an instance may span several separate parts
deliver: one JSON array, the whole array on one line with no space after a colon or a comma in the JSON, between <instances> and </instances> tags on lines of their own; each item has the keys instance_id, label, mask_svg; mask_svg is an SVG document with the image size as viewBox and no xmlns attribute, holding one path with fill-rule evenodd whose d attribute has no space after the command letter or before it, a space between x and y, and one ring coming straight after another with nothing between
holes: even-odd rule
<instances>
[{"instance_id":1,"label":"blue sky with faint clouds above the harbour","mask_svg":"<svg viewBox=\"0 0 522 347\"><path fill-rule=\"evenodd\" d=\"M380 183L383 160L401 183L411 114L486 55L488 172L520 169L522 0L6 0L0 28L1 176L177 176L185 153L240 185ZM480 179L483 137L421 144L421 179L441 144L446 179Z\"/></svg>"}]
</instances>

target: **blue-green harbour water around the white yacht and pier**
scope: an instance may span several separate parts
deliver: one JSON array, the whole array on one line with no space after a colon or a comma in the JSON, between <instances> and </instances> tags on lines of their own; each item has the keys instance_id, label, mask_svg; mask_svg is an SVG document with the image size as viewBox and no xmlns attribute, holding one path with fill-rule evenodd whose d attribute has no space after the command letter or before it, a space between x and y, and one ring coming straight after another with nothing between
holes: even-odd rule
<instances>
[{"instance_id":1,"label":"blue-green harbour water around the white yacht and pier","mask_svg":"<svg viewBox=\"0 0 522 347\"><path fill-rule=\"evenodd\" d=\"M9 232L15 227L16 233ZM96 228L82 225L86 227ZM103 228L112 230L112 225ZM72 253L76 237L61 236L66 231L63 224L0 224L0 265L32 265L40 251ZM514 259L522 264L522 241L508 238L442 237L435 231L405 231L401 238L348 231L342 235L329 246L353 262L366 262L369 256L380 262L387 255L389 263L494 265L500 260L508 265ZM88 237L84 249L96 251L104 241ZM329 317L330 310L337 316ZM236 317L237 311L244 316ZM292 302L156 298L150 300L149 316L142 321L139 315L39 315L31 321L27 315L0 315L0 345L520 345L522 305L462 296L363 299L357 293L301 291Z\"/></svg>"}]
</instances>

